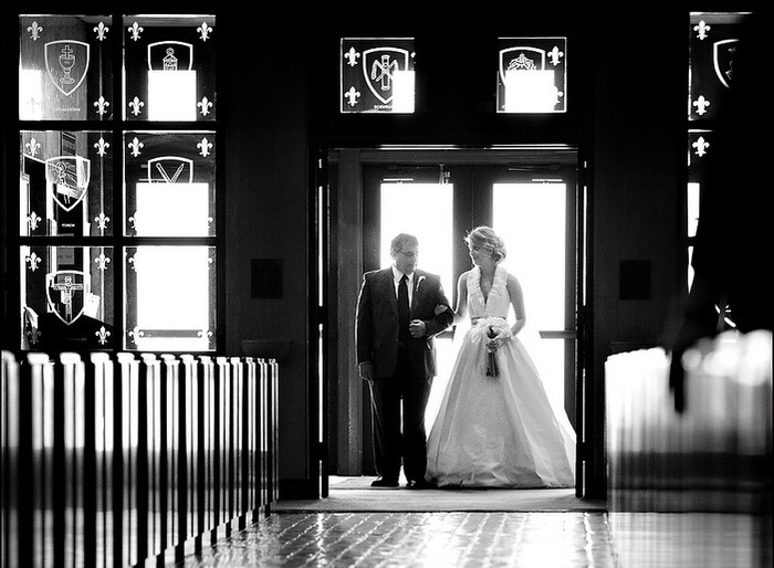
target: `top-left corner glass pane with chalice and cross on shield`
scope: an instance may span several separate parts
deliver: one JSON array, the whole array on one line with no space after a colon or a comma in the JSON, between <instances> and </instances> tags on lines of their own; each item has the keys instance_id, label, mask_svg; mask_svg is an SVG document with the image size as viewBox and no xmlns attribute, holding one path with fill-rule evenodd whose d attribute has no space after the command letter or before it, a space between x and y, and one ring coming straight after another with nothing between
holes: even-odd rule
<instances>
[{"instance_id":1,"label":"top-left corner glass pane with chalice and cross on shield","mask_svg":"<svg viewBox=\"0 0 774 568\"><path fill-rule=\"evenodd\" d=\"M20 15L19 118L111 119L114 36L107 15Z\"/></svg>"}]
</instances>

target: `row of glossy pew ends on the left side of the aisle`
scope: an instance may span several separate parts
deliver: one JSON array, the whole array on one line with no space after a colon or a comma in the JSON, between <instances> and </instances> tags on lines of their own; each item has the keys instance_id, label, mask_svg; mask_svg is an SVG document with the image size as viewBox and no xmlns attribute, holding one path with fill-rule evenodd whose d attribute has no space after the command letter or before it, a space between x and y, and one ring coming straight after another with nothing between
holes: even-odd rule
<instances>
[{"instance_id":1,"label":"row of glossy pew ends on the left side of the aisle","mask_svg":"<svg viewBox=\"0 0 774 568\"><path fill-rule=\"evenodd\" d=\"M2 567L180 560L271 513L276 362L2 353Z\"/></svg>"}]
</instances>

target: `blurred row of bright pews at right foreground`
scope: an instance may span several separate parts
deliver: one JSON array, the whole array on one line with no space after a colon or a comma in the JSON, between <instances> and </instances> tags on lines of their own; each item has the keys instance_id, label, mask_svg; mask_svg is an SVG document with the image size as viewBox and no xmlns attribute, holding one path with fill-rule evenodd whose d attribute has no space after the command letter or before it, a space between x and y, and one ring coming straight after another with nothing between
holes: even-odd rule
<instances>
[{"instance_id":1,"label":"blurred row of bright pews at right foreground","mask_svg":"<svg viewBox=\"0 0 774 568\"><path fill-rule=\"evenodd\" d=\"M629 546L623 566L771 566L771 332L689 349L682 412L669 365L660 348L605 364L608 508L614 538ZM731 565L720 554L729 549L742 555Z\"/></svg>"}]
</instances>

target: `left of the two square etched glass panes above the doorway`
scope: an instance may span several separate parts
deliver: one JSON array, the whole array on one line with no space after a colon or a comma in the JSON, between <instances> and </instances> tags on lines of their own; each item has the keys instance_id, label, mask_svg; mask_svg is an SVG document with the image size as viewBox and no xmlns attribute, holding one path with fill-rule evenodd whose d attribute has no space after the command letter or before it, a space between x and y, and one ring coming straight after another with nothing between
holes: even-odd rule
<instances>
[{"instance_id":1,"label":"left of the two square etched glass panes above the doorway","mask_svg":"<svg viewBox=\"0 0 774 568\"><path fill-rule=\"evenodd\" d=\"M414 113L412 38L343 38L342 113Z\"/></svg>"}]
</instances>

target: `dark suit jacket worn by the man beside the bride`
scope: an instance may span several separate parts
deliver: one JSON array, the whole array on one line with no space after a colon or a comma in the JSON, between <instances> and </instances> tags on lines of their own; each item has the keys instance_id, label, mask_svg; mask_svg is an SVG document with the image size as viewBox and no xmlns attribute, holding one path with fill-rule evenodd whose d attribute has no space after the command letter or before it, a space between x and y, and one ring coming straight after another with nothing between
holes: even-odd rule
<instances>
[{"instance_id":1,"label":"dark suit jacket worn by the man beside the bride","mask_svg":"<svg viewBox=\"0 0 774 568\"><path fill-rule=\"evenodd\" d=\"M430 379L436 376L433 337L451 325L454 315L439 276L415 271L410 311L410 319L421 319L427 326L425 337L409 339L411 369L417 377ZM391 267L364 274L356 318L357 362L373 362L376 378L391 377L399 347L398 301Z\"/></svg>"}]
</instances>

